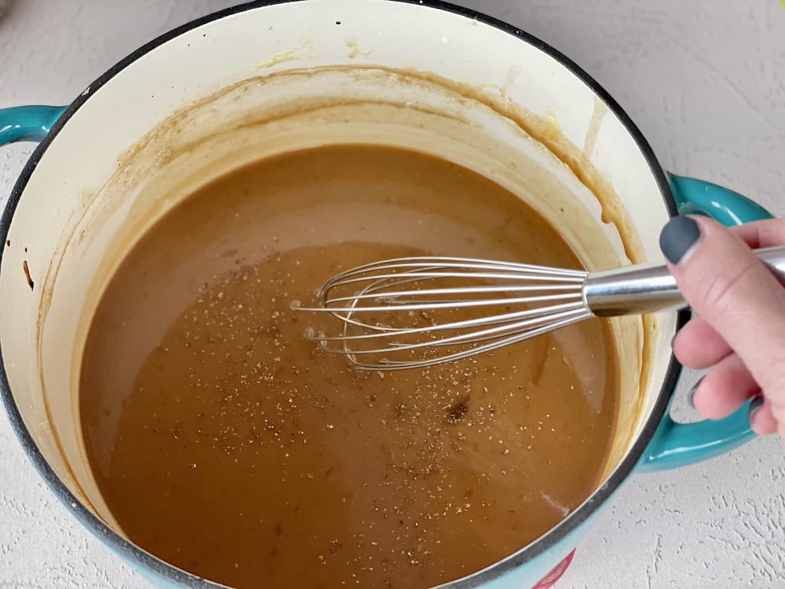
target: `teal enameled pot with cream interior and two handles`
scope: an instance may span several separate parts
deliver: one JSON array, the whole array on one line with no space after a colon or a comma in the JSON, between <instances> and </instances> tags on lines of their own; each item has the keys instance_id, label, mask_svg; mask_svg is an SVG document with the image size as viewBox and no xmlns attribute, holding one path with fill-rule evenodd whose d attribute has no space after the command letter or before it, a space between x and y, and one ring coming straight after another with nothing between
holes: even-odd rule
<instances>
[{"instance_id":1,"label":"teal enameled pot with cream interior and two handles","mask_svg":"<svg viewBox=\"0 0 785 589\"><path fill-rule=\"evenodd\" d=\"M206 16L141 47L67 107L0 110L0 143L24 140L39 144L0 224L0 393L52 491L160 587L217 585L122 535L86 464L76 377L111 261L197 176L330 142L433 152L506 185L590 269L661 262L659 229L678 213L727 225L769 216L735 192L666 174L619 104L556 49L435 0L251 2ZM450 587L546 587L633 471L696 463L754 437L748 405L721 421L668 416L680 370L670 341L687 319L619 320L619 436L603 480L538 540Z\"/></svg>"}]
</instances>

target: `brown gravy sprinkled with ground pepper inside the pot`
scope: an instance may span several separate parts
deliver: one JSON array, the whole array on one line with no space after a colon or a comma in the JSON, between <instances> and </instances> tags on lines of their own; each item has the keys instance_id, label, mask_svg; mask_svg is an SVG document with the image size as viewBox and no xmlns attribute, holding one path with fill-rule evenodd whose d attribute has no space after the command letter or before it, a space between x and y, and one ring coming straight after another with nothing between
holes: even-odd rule
<instances>
[{"instance_id":1,"label":"brown gravy sprinkled with ground pepper inside the pot","mask_svg":"<svg viewBox=\"0 0 785 589\"><path fill-rule=\"evenodd\" d=\"M593 491L617 393L607 323L383 375L303 337L293 299L409 254L579 267L494 182L369 145L236 170L137 243L93 318L79 398L130 540L232 587L417 589L512 554Z\"/></svg>"}]
</instances>

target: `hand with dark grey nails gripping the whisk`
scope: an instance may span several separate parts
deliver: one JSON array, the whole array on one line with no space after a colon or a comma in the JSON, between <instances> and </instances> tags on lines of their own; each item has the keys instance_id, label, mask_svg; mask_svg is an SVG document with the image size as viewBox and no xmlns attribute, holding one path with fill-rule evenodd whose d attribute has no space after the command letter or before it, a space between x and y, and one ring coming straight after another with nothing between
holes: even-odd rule
<instances>
[{"instance_id":1,"label":"hand with dark grey nails gripping the whisk","mask_svg":"<svg viewBox=\"0 0 785 589\"><path fill-rule=\"evenodd\" d=\"M674 353L689 368L711 368L691 391L692 404L721 419L756 397L752 429L785 437L785 287L750 249L783 244L785 219L725 229L676 217L659 236L696 313L674 338Z\"/></svg>"}]
</instances>

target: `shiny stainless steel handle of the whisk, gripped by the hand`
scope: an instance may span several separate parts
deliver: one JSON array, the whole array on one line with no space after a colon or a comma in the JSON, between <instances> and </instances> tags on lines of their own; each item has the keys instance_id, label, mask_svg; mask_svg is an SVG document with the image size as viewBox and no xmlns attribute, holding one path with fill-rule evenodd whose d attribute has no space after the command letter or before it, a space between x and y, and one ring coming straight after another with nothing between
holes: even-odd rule
<instances>
[{"instance_id":1,"label":"shiny stainless steel handle of the whisk, gripped by the hand","mask_svg":"<svg viewBox=\"0 0 785 589\"><path fill-rule=\"evenodd\" d=\"M785 280L785 247L764 247L754 253L772 273ZM583 282L582 294L586 307L600 317L640 315L687 305L665 265L633 265L590 273Z\"/></svg>"}]
</instances>

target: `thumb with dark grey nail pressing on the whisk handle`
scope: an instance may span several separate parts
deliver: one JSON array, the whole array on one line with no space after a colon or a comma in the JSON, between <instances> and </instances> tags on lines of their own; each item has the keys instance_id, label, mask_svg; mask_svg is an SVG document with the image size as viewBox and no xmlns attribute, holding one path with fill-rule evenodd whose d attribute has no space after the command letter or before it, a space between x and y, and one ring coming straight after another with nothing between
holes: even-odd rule
<instances>
[{"instance_id":1,"label":"thumb with dark grey nail pressing on the whisk handle","mask_svg":"<svg viewBox=\"0 0 785 589\"><path fill-rule=\"evenodd\" d=\"M739 236L703 217L668 221L659 247L692 309L728 342L761 390L785 402L785 289L769 268Z\"/></svg>"}]
</instances>

